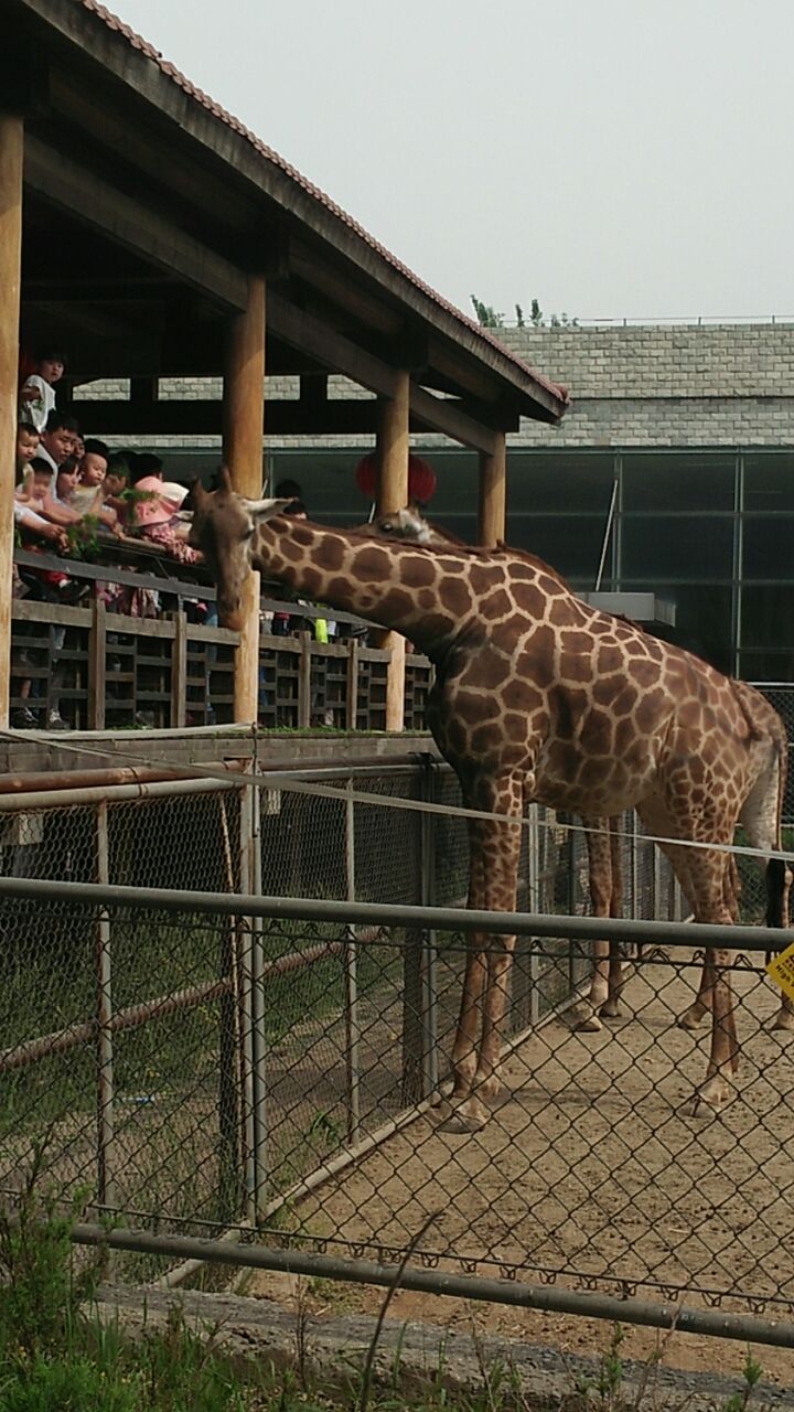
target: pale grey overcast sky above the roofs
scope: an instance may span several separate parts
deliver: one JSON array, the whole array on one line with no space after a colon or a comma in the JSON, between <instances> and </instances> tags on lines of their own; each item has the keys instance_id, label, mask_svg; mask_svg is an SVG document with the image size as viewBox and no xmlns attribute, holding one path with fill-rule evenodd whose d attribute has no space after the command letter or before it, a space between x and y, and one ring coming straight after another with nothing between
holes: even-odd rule
<instances>
[{"instance_id":1,"label":"pale grey overcast sky above the roofs","mask_svg":"<svg viewBox=\"0 0 794 1412\"><path fill-rule=\"evenodd\" d=\"M791 0L107 0L428 284L794 315Z\"/></svg>"}]
</instances>

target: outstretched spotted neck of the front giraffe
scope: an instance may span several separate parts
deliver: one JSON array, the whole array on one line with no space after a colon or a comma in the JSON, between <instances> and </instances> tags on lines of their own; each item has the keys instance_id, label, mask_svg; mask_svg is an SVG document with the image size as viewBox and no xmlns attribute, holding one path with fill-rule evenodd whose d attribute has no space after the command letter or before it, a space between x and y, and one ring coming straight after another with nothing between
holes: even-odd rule
<instances>
[{"instance_id":1,"label":"outstretched spotted neck of the front giraffe","mask_svg":"<svg viewBox=\"0 0 794 1412\"><path fill-rule=\"evenodd\" d=\"M465 552L434 555L281 515L257 524L250 562L314 603L404 633L425 651L451 642L476 609Z\"/></svg>"}]
</instances>

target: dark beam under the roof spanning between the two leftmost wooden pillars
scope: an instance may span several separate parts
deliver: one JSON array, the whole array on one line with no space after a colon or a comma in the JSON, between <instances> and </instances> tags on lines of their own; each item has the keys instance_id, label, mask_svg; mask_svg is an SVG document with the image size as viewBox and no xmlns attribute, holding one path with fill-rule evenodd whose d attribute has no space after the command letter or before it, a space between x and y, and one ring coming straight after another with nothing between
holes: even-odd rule
<instances>
[{"instance_id":1,"label":"dark beam under the roof spanning between the two leftmost wooden pillars","mask_svg":"<svg viewBox=\"0 0 794 1412\"><path fill-rule=\"evenodd\" d=\"M246 308L244 271L34 137L25 143L25 185L181 284L212 295L229 309Z\"/></svg>"}]
</instances>

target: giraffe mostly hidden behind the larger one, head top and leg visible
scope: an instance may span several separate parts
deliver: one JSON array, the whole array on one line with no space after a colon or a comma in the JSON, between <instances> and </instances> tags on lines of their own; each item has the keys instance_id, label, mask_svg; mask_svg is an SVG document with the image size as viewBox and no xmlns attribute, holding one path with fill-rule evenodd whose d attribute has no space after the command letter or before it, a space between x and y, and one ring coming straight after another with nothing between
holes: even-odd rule
<instances>
[{"instance_id":1,"label":"giraffe mostly hidden behind the larger one, head top and leg visible","mask_svg":"<svg viewBox=\"0 0 794 1412\"><path fill-rule=\"evenodd\" d=\"M363 528L363 527L362 527ZM370 521L370 532L387 539L413 539L438 548L445 545L465 546L463 539L439 530L411 503L401 510L376 515ZM620 858L619 819L583 818L585 847L588 850L588 890L593 916L623 915L623 867ZM575 1029L598 1034L603 1029L602 1015L609 1019L620 1017L620 997L626 979L626 966L619 946L613 942L593 942L593 970L588 995L571 1011Z\"/></svg>"}]
</instances>

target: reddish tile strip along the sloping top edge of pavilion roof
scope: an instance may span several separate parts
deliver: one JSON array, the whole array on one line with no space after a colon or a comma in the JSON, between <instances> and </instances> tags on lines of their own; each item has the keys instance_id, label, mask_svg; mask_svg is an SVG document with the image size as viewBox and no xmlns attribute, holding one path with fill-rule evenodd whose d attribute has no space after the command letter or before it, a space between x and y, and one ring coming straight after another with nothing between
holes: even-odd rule
<instances>
[{"instance_id":1,"label":"reddish tile strip along the sloping top edge of pavilion roof","mask_svg":"<svg viewBox=\"0 0 794 1412\"><path fill-rule=\"evenodd\" d=\"M360 240L363 240L372 250L374 250L376 254L386 261L386 264L391 265L393 270L397 270L398 274L403 275L403 278L408 280L428 299L432 299L432 302L439 309L444 309L465 328L475 332L480 339L485 339L486 343L490 343L494 349L499 350L499 353L504 359L507 359L507 361L513 363L523 373L528 374L535 383L538 383L548 393L551 393L552 397L558 398L564 404L568 402L569 398L567 388L557 385L555 383L550 381L550 378L544 377L541 373L537 373L535 369L530 367L528 363L524 363L521 357L519 357L510 349L506 349L499 342L499 339L494 337L487 329L483 329L479 323L475 323L473 319L469 319L468 315L462 313L462 311L458 309L454 304L449 304L448 299L444 299L442 295L437 294L435 289L431 289L429 285L424 284L424 281L420 280L413 270L408 270L408 267L404 265L400 260L397 260L397 257L393 256L391 251L386 249L386 246L381 246L373 236L370 236L369 232L365 230L363 226L357 223L357 220L353 220L353 217L349 216L346 210L338 206L336 202L331 199L331 196L326 196L325 192L319 189L319 186L314 185L314 182L307 181L307 178L302 176L295 167L284 161L284 158L280 157L278 152L273 150L273 147L268 147L267 143L263 143L261 138L256 136L256 133L251 133L250 128L247 128L244 123L240 121L239 117L233 117L232 113L227 113L226 109L220 107L219 103L211 99L208 93L203 93L199 88L196 88L195 83L191 83L191 80L185 78L185 75L181 73L174 64L168 64L167 59L162 58L160 51L155 49L154 45L148 44L147 40L143 40L140 34L136 34L136 31L131 30L130 25L124 24L123 20L114 16L103 4L97 4L97 0L75 0L75 4L82 6L83 10L89 10L99 20L102 20L102 23L107 25L109 30L113 30L117 34L120 34L127 41L127 44L130 44L134 49L140 49L140 52L144 54L147 59L151 59L154 64L157 64L158 69L168 79L171 79L172 83L181 88L184 93L186 93L196 103L201 103L201 106L205 107L209 113L212 113L213 117L218 117L222 123L226 123L227 127L230 127L240 137L246 138L246 141L249 141L251 147L261 157L264 157L266 161L273 162L273 165L277 167L281 172L284 172L284 175L288 176L291 181L294 181L301 188L301 191L307 192L307 195L312 196L326 210L332 212L332 215L338 220L340 220L345 226L348 226L349 230L355 232L355 234Z\"/></svg>"}]
</instances>

